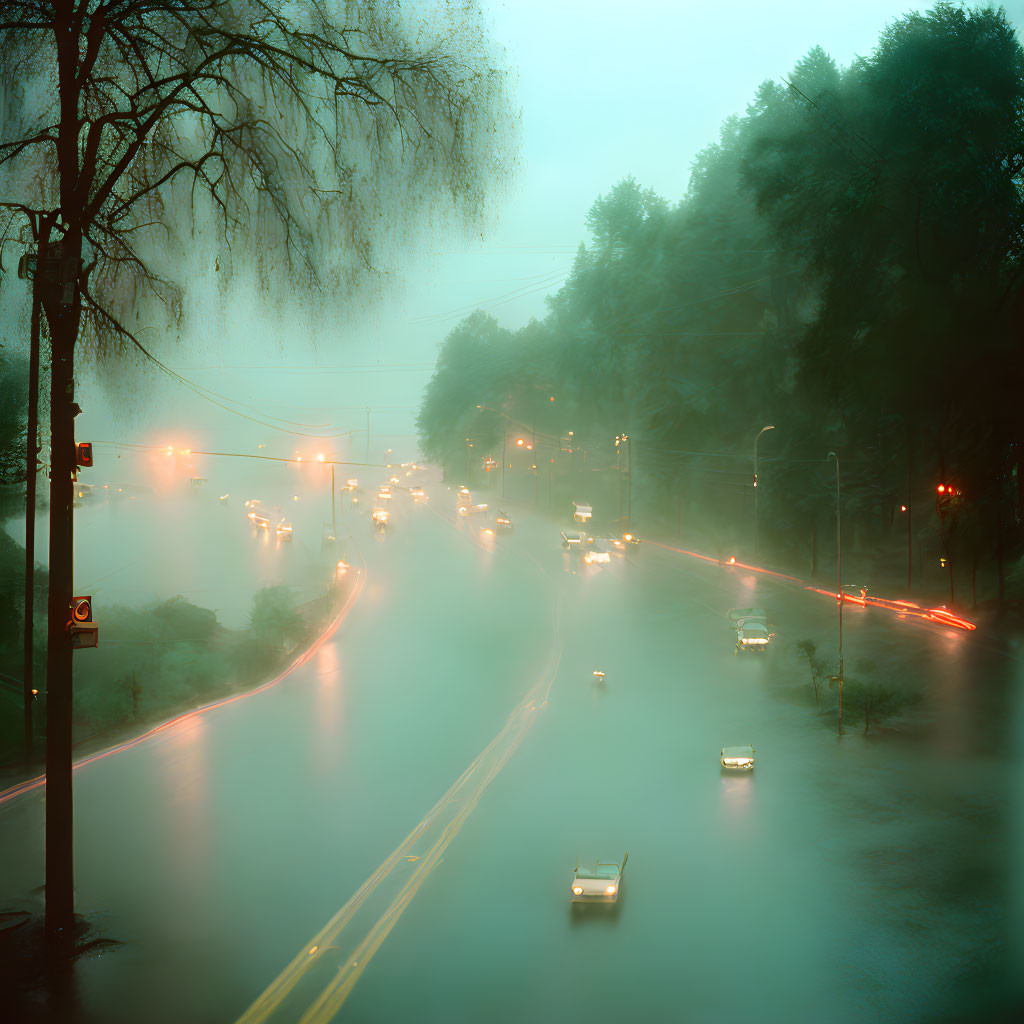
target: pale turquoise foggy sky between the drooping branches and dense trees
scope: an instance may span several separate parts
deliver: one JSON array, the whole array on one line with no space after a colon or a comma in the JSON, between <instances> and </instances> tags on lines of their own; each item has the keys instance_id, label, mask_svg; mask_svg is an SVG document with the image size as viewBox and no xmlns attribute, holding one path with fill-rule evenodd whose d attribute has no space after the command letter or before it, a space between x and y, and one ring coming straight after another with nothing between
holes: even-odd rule
<instances>
[{"instance_id":1,"label":"pale turquoise foggy sky between the drooping branches and dense trees","mask_svg":"<svg viewBox=\"0 0 1024 1024\"><path fill-rule=\"evenodd\" d=\"M255 415L332 428L310 433L361 429L372 407L375 440L386 435L388 446L412 456L438 343L477 306L509 328L543 316L545 295L586 241L584 218L599 193L632 174L678 201L695 155L727 117L743 113L761 82L787 74L815 45L845 67L914 8L898 0L507 0L485 9L517 71L523 139L520 173L496 204L490 233L460 242L438 225L436 243L409 254L404 294L354 326L330 308L306 310L316 324L310 333L295 330L287 310L276 322L255 316L244 296L219 314L209 296L194 296L180 344L152 338L167 361ZM1024 0L1006 9L1024 19ZM197 287L209 291L210 283L198 275ZM283 365L287 373L270 369ZM253 367L262 369L242 369ZM86 383L78 435L251 449L259 434L282 455L317 444L231 416L159 374L133 390L133 408L112 416Z\"/></svg>"}]
</instances>

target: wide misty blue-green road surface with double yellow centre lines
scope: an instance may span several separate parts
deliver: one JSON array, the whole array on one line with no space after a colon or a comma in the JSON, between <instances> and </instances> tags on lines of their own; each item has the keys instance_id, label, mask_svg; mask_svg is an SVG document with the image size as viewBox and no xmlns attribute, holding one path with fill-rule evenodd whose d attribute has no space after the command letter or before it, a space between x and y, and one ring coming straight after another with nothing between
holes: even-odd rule
<instances>
[{"instance_id":1,"label":"wide misty blue-green road surface with double yellow centre lines","mask_svg":"<svg viewBox=\"0 0 1024 1024\"><path fill-rule=\"evenodd\" d=\"M791 649L831 644L834 601L649 544L579 566L550 521L488 537L427 490L386 536L346 511L365 584L306 665L76 774L78 909L126 943L78 965L79 1019L911 1021L1009 980L997 638L849 608L847 671L928 698L840 740ZM763 658L733 655L750 604ZM757 767L724 775L738 743ZM7 902L42 883L42 820L39 792L0 806ZM578 855L626 850L618 903L570 908Z\"/></svg>"}]
</instances>

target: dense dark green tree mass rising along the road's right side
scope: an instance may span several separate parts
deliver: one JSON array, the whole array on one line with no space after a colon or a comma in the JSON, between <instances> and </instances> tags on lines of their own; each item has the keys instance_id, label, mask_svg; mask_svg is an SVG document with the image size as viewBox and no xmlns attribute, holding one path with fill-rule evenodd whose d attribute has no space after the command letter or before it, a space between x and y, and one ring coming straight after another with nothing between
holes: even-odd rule
<instances>
[{"instance_id":1,"label":"dense dark green tree mass rising along the road's right side","mask_svg":"<svg viewBox=\"0 0 1024 1024\"><path fill-rule=\"evenodd\" d=\"M632 178L599 197L543 321L476 312L449 335L424 454L461 467L467 437L500 445L510 423L562 453L571 426L597 470L625 432L648 528L749 551L771 424L769 554L823 569L835 452L844 548L898 569L910 516L915 563L941 557L957 588L980 568L1001 597L1024 500L1022 171L1001 10L908 14L845 70L815 48L723 125L680 202Z\"/></svg>"}]
</instances>

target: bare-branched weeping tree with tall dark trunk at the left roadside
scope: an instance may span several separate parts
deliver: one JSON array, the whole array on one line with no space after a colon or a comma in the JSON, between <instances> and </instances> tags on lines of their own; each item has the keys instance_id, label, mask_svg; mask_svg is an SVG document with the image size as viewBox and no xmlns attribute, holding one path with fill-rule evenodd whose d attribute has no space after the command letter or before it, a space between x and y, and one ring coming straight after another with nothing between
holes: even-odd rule
<instances>
[{"instance_id":1,"label":"bare-branched weeping tree with tall dark trunk at the left roadside","mask_svg":"<svg viewBox=\"0 0 1024 1024\"><path fill-rule=\"evenodd\" d=\"M478 222L514 162L508 93L474 3L415 20L396 0L0 2L0 206L27 228L51 347L51 936L74 909L76 356L102 367L180 316L174 253L197 227L227 275L331 296L386 274L410 225Z\"/></svg>"}]
</instances>

